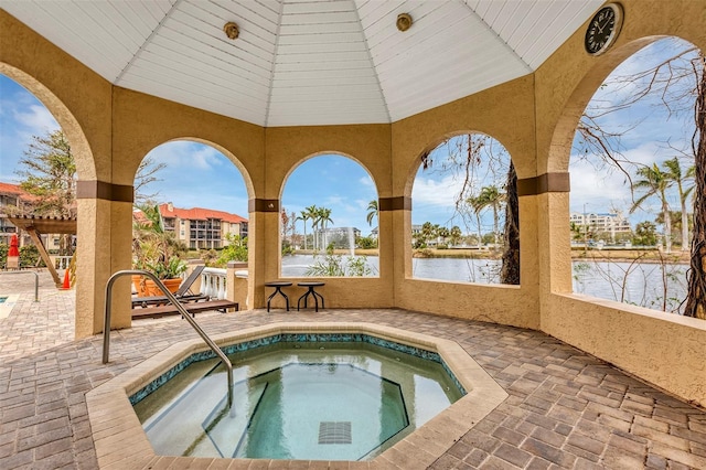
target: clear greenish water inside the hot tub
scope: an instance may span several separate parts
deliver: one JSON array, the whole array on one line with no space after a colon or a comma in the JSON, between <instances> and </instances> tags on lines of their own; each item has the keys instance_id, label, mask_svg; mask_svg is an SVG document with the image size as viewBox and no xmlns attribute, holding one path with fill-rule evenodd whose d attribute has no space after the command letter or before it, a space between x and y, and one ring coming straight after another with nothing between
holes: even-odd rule
<instances>
[{"instance_id":1,"label":"clear greenish water inside the hot tub","mask_svg":"<svg viewBox=\"0 0 706 470\"><path fill-rule=\"evenodd\" d=\"M216 360L132 402L159 455L370 459L463 395L440 361L420 357L435 353L394 344L277 342L234 353L232 410Z\"/></svg>"}]
</instances>

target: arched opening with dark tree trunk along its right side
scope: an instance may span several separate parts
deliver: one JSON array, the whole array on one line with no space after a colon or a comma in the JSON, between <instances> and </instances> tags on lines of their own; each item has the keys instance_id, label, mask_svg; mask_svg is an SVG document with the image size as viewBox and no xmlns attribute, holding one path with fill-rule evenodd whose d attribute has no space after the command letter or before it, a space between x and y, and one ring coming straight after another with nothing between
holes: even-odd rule
<instances>
[{"instance_id":1,"label":"arched opening with dark tree trunk along its right side","mask_svg":"<svg viewBox=\"0 0 706 470\"><path fill-rule=\"evenodd\" d=\"M509 241L518 243L516 220L506 216L509 195L516 201L511 168L502 143L480 132L447 137L421 156L411 190L414 278L518 284L518 253L517 281L503 268L512 264L503 259Z\"/></svg>"}]
</instances>

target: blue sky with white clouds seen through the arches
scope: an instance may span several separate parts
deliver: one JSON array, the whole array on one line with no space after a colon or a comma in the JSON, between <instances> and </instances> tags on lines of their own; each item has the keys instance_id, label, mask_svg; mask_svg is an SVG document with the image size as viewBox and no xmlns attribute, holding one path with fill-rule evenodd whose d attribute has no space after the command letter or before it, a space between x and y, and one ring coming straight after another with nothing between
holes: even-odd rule
<instances>
[{"instance_id":1,"label":"blue sky with white clouds seen through the arches","mask_svg":"<svg viewBox=\"0 0 706 470\"><path fill-rule=\"evenodd\" d=\"M629 74L648 61L666 56L673 45L659 42L633 55L614 74ZM596 99L617 103L632 93L633 87L603 87ZM675 152L666 142L680 147L687 140L684 116L665 118L665 113L649 104L633 106L612 114L603 124L612 129L624 129L639 121L622 139L623 153L643 163L661 162ZM0 181L17 182L18 161L33 135L43 135L58 126L44 106L12 79L0 75ZM202 206L247 216L247 193L237 168L217 150L188 141L162 145L151 154L167 163L148 192L159 192L159 200L171 201L179 207ZM570 209L582 212L628 212L631 205L629 186L617 172L596 171L590 161L573 157ZM493 181L478 181L480 188ZM413 223L431 222L440 225L463 224L453 218L453 195L459 181L439 172L419 172L413 190ZM186 188L191 188L186 190ZM282 194L287 212L299 213L315 204L332 210L333 226L355 226L363 234L372 228L366 222L367 204L377 197L373 181L356 162L339 156L315 157L302 162L290 175ZM657 202L654 202L654 207ZM673 202L677 209L676 201ZM645 207L649 209L649 207ZM483 222L490 225L490 215ZM653 216L637 211L633 223ZM373 223L375 226L375 223ZM301 231L301 227L298 228Z\"/></svg>"}]
</instances>

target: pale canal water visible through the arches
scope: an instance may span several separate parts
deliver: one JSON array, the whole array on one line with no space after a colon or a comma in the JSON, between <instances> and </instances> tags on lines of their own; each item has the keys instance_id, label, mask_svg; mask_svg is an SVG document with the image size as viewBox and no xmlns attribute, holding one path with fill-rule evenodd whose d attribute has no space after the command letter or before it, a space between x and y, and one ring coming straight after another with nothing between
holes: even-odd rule
<instances>
[{"instance_id":1,"label":"pale canal water visible through the arches","mask_svg":"<svg viewBox=\"0 0 706 470\"><path fill-rule=\"evenodd\" d=\"M347 258L346 256L343 259ZM323 257L317 257L323 259ZM498 284L500 260L413 258L413 277L454 282ZM302 277L315 263L311 255L282 257L284 277ZM366 258L379 275L378 258ZM574 292L655 310L675 311L686 297L686 264L575 261Z\"/></svg>"}]
</instances>

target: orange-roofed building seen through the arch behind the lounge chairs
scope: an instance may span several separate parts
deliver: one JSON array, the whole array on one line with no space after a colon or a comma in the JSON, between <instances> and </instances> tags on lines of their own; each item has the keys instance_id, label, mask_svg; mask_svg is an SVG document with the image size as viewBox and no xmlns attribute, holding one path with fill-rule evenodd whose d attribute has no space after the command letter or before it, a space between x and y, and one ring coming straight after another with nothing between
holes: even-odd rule
<instances>
[{"instance_id":1,"label":"orange-roofed building seen through the arch behind the lounge chairs","mask_svg":"<svg viewBox=\"0 0 706 470\"><path fill-rule=\"evenodd\" d=\"M174 233L190 249L223 248L228 234L247 236L247 218L212 209L179 209L170 202L159 206L164 229Z\"/></svg>"}]
</instances>

